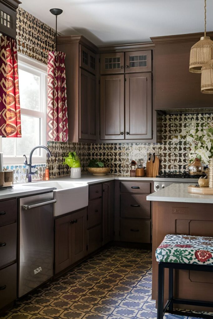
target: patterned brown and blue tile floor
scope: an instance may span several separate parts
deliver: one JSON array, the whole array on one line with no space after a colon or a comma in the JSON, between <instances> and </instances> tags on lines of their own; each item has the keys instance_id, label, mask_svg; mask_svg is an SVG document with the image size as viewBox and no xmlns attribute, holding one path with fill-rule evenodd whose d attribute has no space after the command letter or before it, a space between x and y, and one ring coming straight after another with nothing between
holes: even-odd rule
<instances>
[{"instance_id":1,"label":"patterned brown and blue tile floor","mask_svg":"<svg viewBox=\"0 0 213 319\"><path fill-rule=\"evenodd\" d=\"M151 284L150 251L111 247L19 300L0 319L156 319Z\"/></svg>"}]
</instances>

